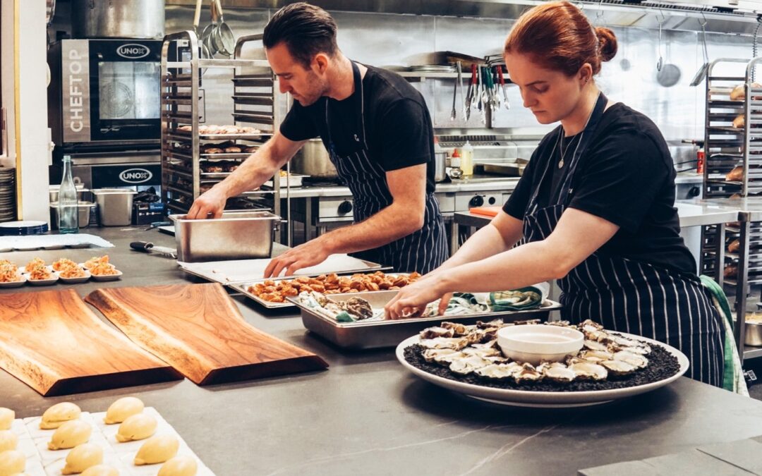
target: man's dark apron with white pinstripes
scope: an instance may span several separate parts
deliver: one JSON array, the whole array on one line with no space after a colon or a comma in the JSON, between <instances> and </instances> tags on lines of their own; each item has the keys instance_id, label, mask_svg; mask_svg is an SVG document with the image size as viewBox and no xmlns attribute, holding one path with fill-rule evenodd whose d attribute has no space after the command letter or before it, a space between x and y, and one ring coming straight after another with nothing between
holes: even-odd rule
<instances>
[{"instance_id":1,"label":"man's dark apron with white pinstripes","mask_svg":"<svg viewBox=\"0 0 762 476\"><path fill-rule=\"evenodd\" d=\"M359 117L353 139L357 148L354 152L341 155L336 152L331 139L331 122L328 114L328 101L325 101L325 122L328 125L328 138L324 139L325 148L331 162L336 167L338 176L347 184L354 198L354 222L362 222L392 204L392 194L386 183L386 171L370 158L365 138L365 104L363 97L363 81L360 69L352 62L354 72L354 88L359 94L354 94L359 102ZM395 271L425 274L447 260L447 234L444 228L439 203L433 193L426 194L426 211L424 225L411 235L397 241L384 244L379 248L359 251L352 254L363 260L391 266Z\"/></svg>"}]
</instances>

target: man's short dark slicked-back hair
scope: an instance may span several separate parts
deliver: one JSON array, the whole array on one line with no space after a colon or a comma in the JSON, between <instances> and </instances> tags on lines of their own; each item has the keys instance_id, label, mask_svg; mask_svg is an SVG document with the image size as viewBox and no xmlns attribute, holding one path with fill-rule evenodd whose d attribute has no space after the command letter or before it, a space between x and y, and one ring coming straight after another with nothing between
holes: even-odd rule
<instances>
[{"instance_id":1,"label":"man's short dark slicked-back hair","mask_svg":"<svg viewBox=\"0 0 762 476\"><path fill-rule=\"evenodd\" d=\"M262 38L268 50L285 43L291 56L305 69L318 53L335 56L336 22L322 8L299 2L280 8L264 27Z\"/></svg>"}]
</instances>

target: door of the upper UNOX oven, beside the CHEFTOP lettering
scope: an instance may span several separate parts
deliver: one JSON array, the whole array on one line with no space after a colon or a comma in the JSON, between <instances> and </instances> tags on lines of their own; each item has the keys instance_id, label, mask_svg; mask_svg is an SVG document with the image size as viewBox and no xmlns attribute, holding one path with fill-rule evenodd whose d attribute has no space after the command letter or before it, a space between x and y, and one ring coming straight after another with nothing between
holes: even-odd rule
<instances>
[{"instance_id":1,"label":"door of the upper UNOX oven, beside the CHEFTOP lettering","mask_svg":"<svg viewBox=\"0 0 762 476\"><path fill-rule=\"evenodd\" d=\"M91 40L91 142L158 142L161 41Z\"/></svg>"}]
</instances>

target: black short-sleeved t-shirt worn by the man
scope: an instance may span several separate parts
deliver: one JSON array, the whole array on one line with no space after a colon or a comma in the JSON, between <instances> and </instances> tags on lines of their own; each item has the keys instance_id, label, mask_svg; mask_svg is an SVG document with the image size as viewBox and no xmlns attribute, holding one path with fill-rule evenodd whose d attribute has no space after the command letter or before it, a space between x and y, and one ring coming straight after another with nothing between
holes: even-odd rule
<instances>
[{"instance_id":1,"label":"black short-sleeved t-shirt worn by the man","mask_svg":"<svg viewBox=\"0 0 762 476\"><path fill-rule=\"evenodd\" d=\"M385 171L426 164L426 192L434 193L434 129L424 98L405 78L386 69L367 66L363 78L363 120L368 156ZM293 107L280 124L280 133L292 141L320 137L328 148L330 139L341 156L357 151L354 139L360 120L360 88L342 101L321 97L303 107Z\"/></svg>"}]
</instances>

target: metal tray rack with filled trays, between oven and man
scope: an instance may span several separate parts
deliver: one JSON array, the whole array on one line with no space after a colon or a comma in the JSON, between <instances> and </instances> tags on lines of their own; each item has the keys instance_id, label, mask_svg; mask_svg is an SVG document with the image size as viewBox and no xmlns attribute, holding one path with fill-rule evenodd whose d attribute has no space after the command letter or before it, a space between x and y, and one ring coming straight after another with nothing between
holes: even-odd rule
<instances>
[{"instance_id":1,"label":"metal tray rack with filled trays, between oven and man","mask_svg":"<svg viewBox=\"0 0 762 476\"><path fill-rule=\"evenodd\" d=\"M245 44L256 40L261 35L239 38L232 59L206 59L200 57L200 42L193 31L164 39L162 198L173 213L187 212L201 193L229 176L279 124L276 101L280 94L275 94L277 83L270 66L264 59L241 58ZM202 123L205 97L214 101L229 97L229 125ZM280 184L281 180L272 180L267 189L248 190L228 200L226 209L271 209L280 215Z\"/></svg>"}]
</instances>

